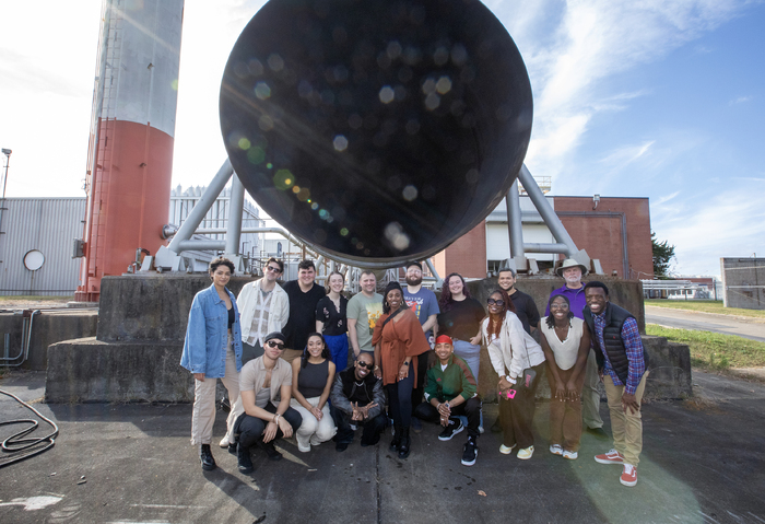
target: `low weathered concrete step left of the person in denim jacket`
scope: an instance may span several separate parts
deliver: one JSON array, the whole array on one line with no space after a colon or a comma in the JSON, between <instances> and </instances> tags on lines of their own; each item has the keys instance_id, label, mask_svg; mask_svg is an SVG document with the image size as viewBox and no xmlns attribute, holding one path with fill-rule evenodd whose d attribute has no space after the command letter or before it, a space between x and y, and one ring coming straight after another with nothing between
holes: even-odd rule
<instances>
[{"instance_id":1,"label":"low weathered concrete step left of the person in denim jacket","mask_svg":"<svg viewBox=\"0 0 765 524\"><path fill-rule=\"evenodd\" d=\"M193 377L178 365L183 343L66 340L48 349L46 403L193 400Z\"/></svg>"}]
</instances>

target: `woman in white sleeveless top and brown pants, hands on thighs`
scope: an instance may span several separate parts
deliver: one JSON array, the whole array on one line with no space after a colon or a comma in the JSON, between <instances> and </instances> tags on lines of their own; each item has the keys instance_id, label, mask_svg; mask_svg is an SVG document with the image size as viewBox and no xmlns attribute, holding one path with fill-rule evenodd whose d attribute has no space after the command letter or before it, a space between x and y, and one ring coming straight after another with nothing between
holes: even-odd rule
<instances>
[{"instance_id":1,"label":"woman in white sleeveless top and brown pants, hands on thighs","mask_svg":"<svg viewBox=\"0 0 765 524\"><path fill-rule=\"evenodd\" d=\"M590 330L574 316L568 298L553 294L542 318L542 350L550 382L550 453L576 459L581 436L581 387L590 352Z\"/></svg>"}]
</instances>

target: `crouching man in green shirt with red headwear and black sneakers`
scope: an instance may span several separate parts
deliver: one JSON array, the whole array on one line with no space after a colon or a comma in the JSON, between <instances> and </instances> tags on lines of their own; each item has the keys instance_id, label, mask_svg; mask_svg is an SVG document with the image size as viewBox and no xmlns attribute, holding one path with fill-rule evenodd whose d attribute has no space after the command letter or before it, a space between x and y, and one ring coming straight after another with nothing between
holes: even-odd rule
<instances>
[{"instance_id":1,"label":"crouching man in green shirt with red headwear and black sneakers","mask_svg":"<svg viewBox=\"0 0 765 524\"><path fill-rule=\"evenodd\" d=\"M416 407L414 416L426 422L440 422L444 431L438 440L451 440L462 431L460 415L468 417L468 442L462 452L462 465L472 466L478 457L479 423L481 420L481 398L476 393L475 377L470 368L454 354L451 338L440 335L436 338L435 353L438 358L427 370L425 401Z\"/></svg>"}]
</instances>

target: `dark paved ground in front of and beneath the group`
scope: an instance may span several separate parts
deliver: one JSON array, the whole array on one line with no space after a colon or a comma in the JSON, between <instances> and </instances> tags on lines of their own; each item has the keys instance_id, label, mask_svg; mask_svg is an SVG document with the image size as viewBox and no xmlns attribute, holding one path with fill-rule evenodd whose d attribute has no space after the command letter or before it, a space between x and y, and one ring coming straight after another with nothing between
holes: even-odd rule
<instances>
[{"instance_id":1,"label":"dark paved ground in front of and beneath the group","mask_svg":"<svg viewBox=\"0 0 765 524\"><path fill-rule=\"evenodd\" d=\"M620 467L592 461L609 441L586 434L575 462L551 455L546 403L530 461L499 454L487 433L478 463L464 467L464 433L439 442L426 427L407 461L357 441L342 454L331 443L303 454L284 442L285 459L256 454L251 476L217 447L220 467L200 469L189 405L35 404L61 434L47 453L0 469L0 522L765 523L765 386L703 373L694 382L695 399L645 406L635 488L619 484ZM14 373L0 389L39 403L44 384L40 373ZM601 405L608 428L607 411ZM486 419L495 412L487 406ZM0 396L0 421L27 416ZM0 438L10 432L0 427Z\"/></svg>"}]
</instances>

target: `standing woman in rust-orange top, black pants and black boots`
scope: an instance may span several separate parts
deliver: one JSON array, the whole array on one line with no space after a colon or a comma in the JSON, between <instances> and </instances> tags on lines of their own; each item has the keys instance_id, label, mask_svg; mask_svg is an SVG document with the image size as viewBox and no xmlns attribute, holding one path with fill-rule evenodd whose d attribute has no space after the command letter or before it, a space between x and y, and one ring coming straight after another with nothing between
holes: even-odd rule
<instances>
[{"instance_id":1,"label":"standing woman in rust-orange top, black pants and black boots","mask_svg":"<svg viewBox=\"0 0 765 524\"><path fill-rule=\"evenodd\" d=\"M410 451L409 427L412 422L412 389L417 374L417 356L427 352L417 315L407 306L398 282L390 282L382 295L382 316L372 335L375 347L375 375L382 379L393 417L391 451L407 458Z\"/></svg>"}]
</instances>

